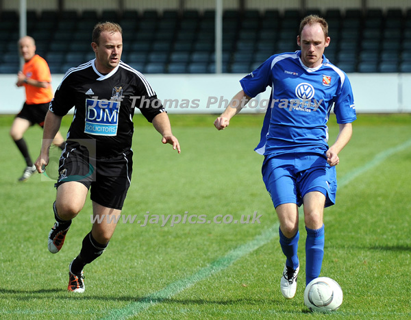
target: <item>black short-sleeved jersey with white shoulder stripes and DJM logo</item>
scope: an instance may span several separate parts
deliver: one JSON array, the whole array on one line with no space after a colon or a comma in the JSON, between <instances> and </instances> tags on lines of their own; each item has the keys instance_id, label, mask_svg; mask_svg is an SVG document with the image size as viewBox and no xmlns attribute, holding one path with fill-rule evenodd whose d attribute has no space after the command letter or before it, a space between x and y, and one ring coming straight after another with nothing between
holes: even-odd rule
<instances>
[{"instance_id":1,"label":"black short-sleeved jersey with white shoulder stripes and DJM logo","mask_svg":"<svg viewBox=\"0 0 411 320\"><path fill-rule=\"evenodd\" d=\"M134 107L149 122L164 112L144 75L124 62L103 75L97 71L95 60L66 72L49 110L64 116L73 106L67 142L96 140L97 158L117 156L132 147Z\"/></svg>"}]
</instances>

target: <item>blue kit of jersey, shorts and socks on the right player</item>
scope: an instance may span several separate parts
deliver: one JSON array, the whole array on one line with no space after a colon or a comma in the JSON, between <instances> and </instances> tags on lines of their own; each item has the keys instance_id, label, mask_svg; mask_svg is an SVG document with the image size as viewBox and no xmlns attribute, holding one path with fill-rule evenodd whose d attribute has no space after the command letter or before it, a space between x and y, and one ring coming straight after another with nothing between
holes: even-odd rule
<instances>
[{"instance_id":1,"label":"blue kit of jersey, shorts and socks on the right player","mask_svg":"<svg viewBox=\"0 0 411 320\"><path fill-rule=\"evenodd\" d=\"M356 120L351 84L347 75L331 64L308 68L301 51L271 56L258 69L240 80L245 94L256 97L271 86L271 101L262 125L256 152L264 155L263 181L275 207L295 203L301 206L306 193L319 191L325 206L335 203L336 170L327 163L327 121L334 106L337 123ZM324 226L306 227L306 283L321 271ZM299 232L286 238L279 230L279 242L286 265L297 269Z\"/></svg>"}]
</instances>

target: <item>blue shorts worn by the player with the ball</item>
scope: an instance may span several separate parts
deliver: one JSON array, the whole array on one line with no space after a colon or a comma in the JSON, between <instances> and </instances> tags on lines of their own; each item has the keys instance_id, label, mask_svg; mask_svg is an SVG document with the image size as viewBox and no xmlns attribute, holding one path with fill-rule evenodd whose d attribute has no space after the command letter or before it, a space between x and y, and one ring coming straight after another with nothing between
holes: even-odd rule
<instances>
[{"instance_id":1,"label":"blue shorts worn by the player with the ball","mask_svg":"<svg viewBox=\"0 0 411 320\"><path fill-rule=\"evenodd\" d=\"M336 167L329 166L325 155L286 153L266 157L262 180L275 208L289 203L301 206L304 195L312 191L325 195L325 207L336 201Z\"/></svg>"}]
</instances>

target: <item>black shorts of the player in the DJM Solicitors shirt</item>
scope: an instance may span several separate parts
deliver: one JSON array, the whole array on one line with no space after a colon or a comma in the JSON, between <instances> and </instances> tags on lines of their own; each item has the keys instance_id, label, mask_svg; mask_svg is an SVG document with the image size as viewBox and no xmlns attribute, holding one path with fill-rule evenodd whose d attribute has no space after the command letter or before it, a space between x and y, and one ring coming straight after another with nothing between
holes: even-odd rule
<instances>
[{"instance_id":1,"label":"black shorts of the player in the DJM Solicitors shirt","mask_svg":"<svg viewBox=\"0 0 411 320\"><path fill-rule=\"evenodd\" d=\"M94 159L82 145L68 143L60 158L55 187L77 181L90 189L90 199L107 208L123 208L132 180L133 151L114 158Z\"/></svg>"}]
</instances>

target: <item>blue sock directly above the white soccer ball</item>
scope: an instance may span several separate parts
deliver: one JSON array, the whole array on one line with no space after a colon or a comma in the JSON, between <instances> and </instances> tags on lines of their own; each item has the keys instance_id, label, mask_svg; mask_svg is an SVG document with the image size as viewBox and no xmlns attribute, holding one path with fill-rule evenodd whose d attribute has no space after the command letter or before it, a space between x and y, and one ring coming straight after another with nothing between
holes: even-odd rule
<instances>
[{"instance_id":1,"label":"blue sock directly above the white soccer ball","mask_svg":"<svg viewBox=\"0 0 411 320\"><path fill-rule=\"evenodd\" d=\"M319 278L324 257L324 225L316 230L308 229L306 239L306 285Z\"/></svg>"}]
</instances>

